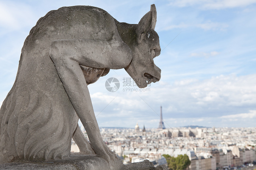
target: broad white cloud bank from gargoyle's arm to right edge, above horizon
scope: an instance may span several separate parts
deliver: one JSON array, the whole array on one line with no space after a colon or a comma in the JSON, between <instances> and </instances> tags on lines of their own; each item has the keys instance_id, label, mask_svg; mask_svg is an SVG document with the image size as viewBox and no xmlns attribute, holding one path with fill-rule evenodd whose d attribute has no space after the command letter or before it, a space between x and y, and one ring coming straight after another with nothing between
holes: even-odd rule
<instances>
[{"instance_id":1,"label":"broad white cloud bank from gargoyle's arm to right edge, above horizon","mask_svg":"<svg viewBox=\"0 0 256 170\"><path fill-rule=\"evenodd\" d=\"M93 93L91 98L95 114L102 111L97 119L123 117L125 120L159 121L162 105L163 118L170 126L175 121L185 123L185 119L203 125L211 121L213 115L218 118L216 121L221 122L223 115L240 114L248 108L256 110L256 74L220 75L206 80L180 80L173 84L160 81L149 88L149 92L123 92L120 87L114 93L107 90Z\"/></svg>"}]
</instances>

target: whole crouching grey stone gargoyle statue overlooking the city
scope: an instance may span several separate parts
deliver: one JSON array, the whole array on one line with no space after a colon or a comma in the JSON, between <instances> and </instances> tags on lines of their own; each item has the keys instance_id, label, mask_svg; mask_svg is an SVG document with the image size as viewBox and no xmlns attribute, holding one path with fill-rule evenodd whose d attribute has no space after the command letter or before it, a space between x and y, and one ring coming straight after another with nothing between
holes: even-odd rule
<instances>
[{"instance_id":1,"label":"whole crouching grey stone gargoyle statue overlooking the city","mask_svg":"<svg viewBox=\"0 0 256 170\"><path fill-rule=\"evenodd\" d=\"M159 81L161 70L153 61L160 55L156 17L153 4L138 24L120 23L90 6L62 7L40 18L1 106L0 163L63 159L73 138L80 154L119 164L102 140L87 85L122 68L142 80L136 81L139 88Z\"/></svg>"}]
</instances>

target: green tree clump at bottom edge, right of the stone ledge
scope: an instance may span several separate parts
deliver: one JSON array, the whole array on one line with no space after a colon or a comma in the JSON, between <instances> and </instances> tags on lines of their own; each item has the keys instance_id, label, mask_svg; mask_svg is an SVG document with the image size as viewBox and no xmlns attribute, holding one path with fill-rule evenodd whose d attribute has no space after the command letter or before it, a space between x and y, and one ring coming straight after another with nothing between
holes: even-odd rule
<instances>
[{"instance_id":1,"label":"green tree clump at bottom edge, right of the stone ledge","mask_svg":"<svg viewBox=\"0 0 256 170\"><path fill-rule=\"evenodd\" d=\"M168 154L164 154L168 167L170 170L184 170L190 165L188 155L178 155L177 158L171 157Z\"/></svg>"}]
</instances>

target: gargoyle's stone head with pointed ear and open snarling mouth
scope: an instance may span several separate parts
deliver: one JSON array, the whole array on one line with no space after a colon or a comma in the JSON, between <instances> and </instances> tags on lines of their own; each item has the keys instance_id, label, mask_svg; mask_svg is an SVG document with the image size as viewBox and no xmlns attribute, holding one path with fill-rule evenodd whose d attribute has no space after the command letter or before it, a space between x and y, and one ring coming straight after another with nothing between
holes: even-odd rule
<instances>
[{"instance_id":1,"label":"gargoyle's stone head with pointed ear and open snarling mouth","mask_svg":"<svg viewBox=\"0 0 256 170\"><path fill-rule=\"evenodd\" d=\"M159 36L154 31L157 11L154 4L136 26L136 42L132 45L133 58L124 68L139 88L145 88L151 82L161 78L161 70L154 64L154 58L160 55Z\"/></svg>"}]
</instances>

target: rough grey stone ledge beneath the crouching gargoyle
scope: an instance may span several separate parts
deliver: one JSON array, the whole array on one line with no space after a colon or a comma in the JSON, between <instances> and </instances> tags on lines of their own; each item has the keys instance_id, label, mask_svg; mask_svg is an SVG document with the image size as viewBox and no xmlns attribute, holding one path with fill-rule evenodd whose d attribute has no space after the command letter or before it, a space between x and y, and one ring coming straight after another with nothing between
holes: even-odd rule
<instances>
[{"instance_id":1,"label":"rough grey stone ledge beneath the crouching gargoyle","mask_svg":"<svg viewBox=\"0 0 256 170\"><path fill-rule=\"evenodd\" d=\"M98 156L70 155L69 159L54 161L22 161L0 164L6 170L108 170L113 169L107 161ZM120 170L168 170L165 165L154 167L153 163L143 162L124 165Z\"/></svg>"}]
</instances>

